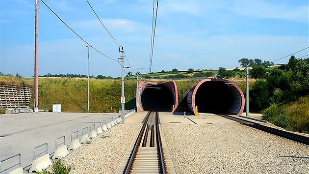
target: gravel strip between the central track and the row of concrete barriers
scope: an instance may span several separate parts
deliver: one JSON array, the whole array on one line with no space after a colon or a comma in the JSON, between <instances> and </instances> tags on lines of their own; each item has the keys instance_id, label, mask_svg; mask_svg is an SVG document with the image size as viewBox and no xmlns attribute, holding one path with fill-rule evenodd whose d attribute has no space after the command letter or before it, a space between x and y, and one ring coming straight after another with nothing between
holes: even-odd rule
<instances>
[{"instance_id":1,"label":"gravel strip between the central track and the row of concrete barriers","mask_svg":"<svg viewBox=\"0 0 309 174\"><path fill-rule=\"evenodd\" d=\"M117 124L100 137L63 159L74 166L70 174L114 174L141 124ZM102 136L110 136L102 138Z\"/></svg>"}]
</instances>

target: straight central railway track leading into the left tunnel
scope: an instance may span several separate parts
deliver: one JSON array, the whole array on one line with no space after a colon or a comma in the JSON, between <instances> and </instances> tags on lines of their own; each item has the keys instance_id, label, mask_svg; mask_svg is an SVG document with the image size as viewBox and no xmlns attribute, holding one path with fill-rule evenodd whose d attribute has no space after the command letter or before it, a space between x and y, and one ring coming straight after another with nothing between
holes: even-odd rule
<instances>
[{"instance_id":1,"label":"straight central railway track leading into the left tunnel","mask_svg":"<svg viewBox=\"0 0 309 174\"><path fill-rule=\"evenodd\" d=\"M123 160L128 159L126 165L124 168L121 165L118 166L118 169L123 169L123 171L117 170L118 174L120 172L122 174L171 173L167 172L164 158L158 112L149 112L146 115L134 146L128 150L130 154L123 158Z\"/></svg>"}]
</instances>

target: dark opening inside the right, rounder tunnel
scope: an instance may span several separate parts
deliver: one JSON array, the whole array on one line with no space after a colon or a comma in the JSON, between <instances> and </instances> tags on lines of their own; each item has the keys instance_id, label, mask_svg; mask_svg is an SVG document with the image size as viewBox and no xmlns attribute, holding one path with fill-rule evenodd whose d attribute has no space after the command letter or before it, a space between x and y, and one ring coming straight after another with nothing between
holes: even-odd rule
<instances>
[{"instance_id":1,"label":"dark opening inside the right, rounder tunnel","mask_svg":"<svg viewBox=\"0 0 309 174\"><path fill-rule=\"evenodd\" d=\"M239 100L240 95L229 84L207 81L196 91L195 106L199 113L236 114L240 107L235 101Z\"/></svg>"}]
</instances>

